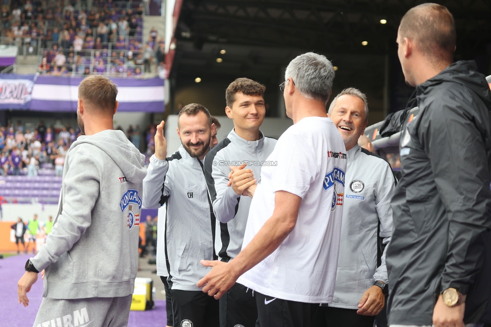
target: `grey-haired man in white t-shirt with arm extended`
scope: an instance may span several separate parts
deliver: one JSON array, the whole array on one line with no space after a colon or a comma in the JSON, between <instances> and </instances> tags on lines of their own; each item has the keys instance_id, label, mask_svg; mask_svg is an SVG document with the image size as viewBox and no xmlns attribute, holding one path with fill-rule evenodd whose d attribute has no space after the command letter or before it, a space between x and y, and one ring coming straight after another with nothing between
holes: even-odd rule
<instances>
[{"instance_id":1,"label":"grey-haired man in white t-shirt with arm extended","mask_svg":"<svg viewBox=\"0 0 491 327\"><path fill-rule=\"evenodd\" d=\"M253 289L261 326L310 326L318 303L333 300L346 150L325 116L334 69L322 55L293 59L280 85L293 120L263 165L242 251L213 267L198 286L220 298L237 280Z\"/></svg>"}]
</instances>

